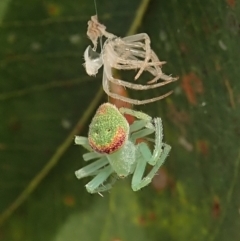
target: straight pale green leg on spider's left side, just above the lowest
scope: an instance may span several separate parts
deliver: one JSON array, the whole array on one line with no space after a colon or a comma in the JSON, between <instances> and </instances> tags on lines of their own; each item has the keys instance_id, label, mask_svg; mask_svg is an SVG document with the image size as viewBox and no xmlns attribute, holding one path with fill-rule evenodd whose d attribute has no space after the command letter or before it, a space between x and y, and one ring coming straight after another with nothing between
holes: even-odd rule
<instances>
[{"instance_id":1,"label":"straight pale green leg on spider's left side, just above the lowest","mask_svg":"<svg viewBox=\"0 0 240 241\"><path fill-rule=\"evenodd\" d=\"M107 158L104 156L97 161L75 171L75 175L78 179L83 177L92 176L98 169L108 164Z\"/></svg>"}]
</instances>

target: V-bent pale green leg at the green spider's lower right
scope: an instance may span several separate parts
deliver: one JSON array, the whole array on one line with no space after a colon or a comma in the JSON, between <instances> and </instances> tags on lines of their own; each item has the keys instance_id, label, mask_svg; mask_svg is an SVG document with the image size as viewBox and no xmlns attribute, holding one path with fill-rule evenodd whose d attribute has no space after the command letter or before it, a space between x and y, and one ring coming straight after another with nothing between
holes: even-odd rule
<instances>
[{"instance_id":1,"label":"V-bent pale green leg at the green spider's lower right","mask_svg":"<svg viewBox=\"0 0 240 241\"><path fill-rule=\"evenodd\" d=\"M149 160L149 157L151 156L151 152L148 148L148 146L145 143L139 144L139 152L141 155L139 155L139 159L137 162L136 169L133 173L132 178L132 189L133 191L138 191L139 189L147 186L159 170L159 168L164 163L165 159L167 158L169 152L171 150L171 147L167 144L163 143L163 149L161 156L156 160L156 164L153 166L152 170L147 174L147 176L143 177L147 162Z\"/></svg>"}]
</instances>

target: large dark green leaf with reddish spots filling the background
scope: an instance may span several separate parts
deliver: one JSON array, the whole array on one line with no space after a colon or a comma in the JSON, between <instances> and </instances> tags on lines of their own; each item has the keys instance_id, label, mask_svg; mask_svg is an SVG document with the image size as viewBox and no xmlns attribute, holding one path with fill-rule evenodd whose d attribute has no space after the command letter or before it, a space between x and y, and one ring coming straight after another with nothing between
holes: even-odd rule
<instances>
[{"instance_id":1,"label":"large dark green leaf with reddish spots filling the background","mask_svg":"<svg viewBox=\"0 0 240 241\"><path fill-rule=\"evenodd\" d=\"M1 2L1 240L238 240L240 5L141 4L97 1L99 19L121 37L140 27L167 61L164 73L180 77L130 92L145 99L174 89L136 108L162 117L172 151L151 185L133 192L129 178L102 198L74 176L85 165L74 135L87 135L106 101L101 73L89 77L82 67L94 2Z\"/></svg>"}]
</instances>

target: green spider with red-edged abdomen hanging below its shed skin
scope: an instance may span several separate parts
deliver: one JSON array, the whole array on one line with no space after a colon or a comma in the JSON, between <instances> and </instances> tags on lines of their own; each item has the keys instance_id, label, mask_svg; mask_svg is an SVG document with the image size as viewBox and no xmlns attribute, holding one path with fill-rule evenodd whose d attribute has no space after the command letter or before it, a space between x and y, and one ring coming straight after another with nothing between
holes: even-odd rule
<instances>
[{"instance_id":1,"label":"green spider with red-edged abdomen hanging below its shed skin","mask_svg":"<svg viewBox=\"0 0 240 241\"><path fill-rule=\"evenodd\" d=\"M137 120L129 126L124 114ZM154 132L155 140L145 138ZM155 143L153 152L145 142L136 144L136 140L143 137ZM84 161L97 159L76 171L76 177L94 176L86 189L89 193L100 193L111 189L118 178L133 174L131 186L133 191L138 191L151 182L171 150L169 145L162 143L162 138L161 118L104 103L92 119L88 138L75 137L75 143L89 151L83 155ZM143 178L147 163L152 169Z\"/></svg>"}]
</instances>

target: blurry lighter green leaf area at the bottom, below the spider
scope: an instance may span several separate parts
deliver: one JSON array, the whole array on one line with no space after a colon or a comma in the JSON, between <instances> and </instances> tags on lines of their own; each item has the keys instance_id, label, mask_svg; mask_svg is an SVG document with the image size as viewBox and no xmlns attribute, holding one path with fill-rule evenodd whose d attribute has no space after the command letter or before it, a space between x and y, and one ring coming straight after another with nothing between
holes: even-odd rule
<instances>
[{"instance_id":1,"label":"blurry lighter green leaf area at the bottom, below the spider","mask_svg":"<svg viewBox=\"0 0 240 241\"><path fill-rule=\"evenodd\" d=\"M69 216L53 240L74 241L84 237L86 241L130 239L144 241L146 235L140 228L140 211L135 193L121 183L116 185L110 196L106 195L103 198L98 196L89 209ZM89 230L90 227L93 228L92 231Z\"/></svg>"}]
</instances>

